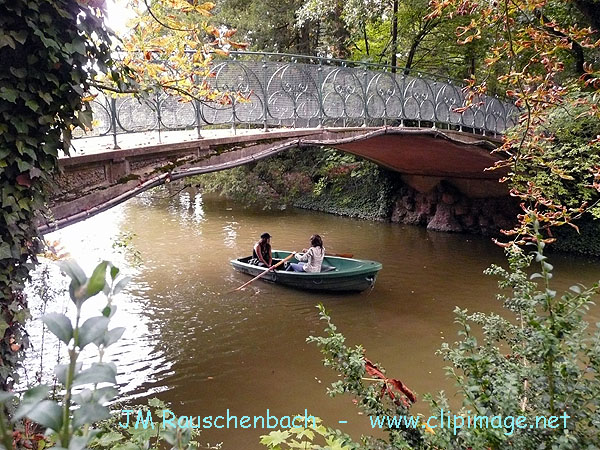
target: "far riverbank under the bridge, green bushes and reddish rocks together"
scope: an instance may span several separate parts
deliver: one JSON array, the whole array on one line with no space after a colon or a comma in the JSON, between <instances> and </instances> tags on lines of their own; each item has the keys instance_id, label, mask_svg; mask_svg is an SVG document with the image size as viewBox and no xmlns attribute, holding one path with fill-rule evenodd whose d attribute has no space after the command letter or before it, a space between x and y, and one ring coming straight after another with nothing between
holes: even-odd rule
<instances>
[{"instance_id":1,"label":"far riverbank under the bridge, green bushes and reddish rocks together","mask_svg":"<svg viewBox=\"0 0 600 450\"><path fill-rule=\"evenodd\" d=\"M416 180L416 181L415 181ZM417 225L430 231L502 236L521 212L518 199L469 181L407 177L333 149L293 150L194 180L204 191L258 208L293 206L365 220ZM464 187L467 183L462 183ZM502 189L502 188L501 188ZM500 191L501 191L500 189ZM473 195L472 192L477 192ZM600 225L582 222L581 234L560 230L556 250L600 255Z\"/></svg>"}]
</instances>

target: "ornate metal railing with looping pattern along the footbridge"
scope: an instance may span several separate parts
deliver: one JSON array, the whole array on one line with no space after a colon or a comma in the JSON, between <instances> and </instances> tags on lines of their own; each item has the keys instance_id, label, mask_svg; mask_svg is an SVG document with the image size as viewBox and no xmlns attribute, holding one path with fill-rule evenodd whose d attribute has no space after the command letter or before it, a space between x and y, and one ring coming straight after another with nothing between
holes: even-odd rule
<instances>
[{"instance_id":1,"label":"ornate metal railing with looping pattern along the footbridge","mask_svg":"<svg viewBox=\"0 0 600 450\"><path fill-rule=\"evenodd\" d=\"M138 99L99 95L92 102L94 135L197 129L241 124L262 127L418 126L476 134L502 134L517 109L483 96L463 113L462 86L418 72L392 73L389 66L277 53L231 52L214 62L208 82L242 93L249 102L229 105L182 102L165 93ZM89 136L87 134L86 136ZM79 135L78 137L83 137Z\"/></svg>"}]
</instances>

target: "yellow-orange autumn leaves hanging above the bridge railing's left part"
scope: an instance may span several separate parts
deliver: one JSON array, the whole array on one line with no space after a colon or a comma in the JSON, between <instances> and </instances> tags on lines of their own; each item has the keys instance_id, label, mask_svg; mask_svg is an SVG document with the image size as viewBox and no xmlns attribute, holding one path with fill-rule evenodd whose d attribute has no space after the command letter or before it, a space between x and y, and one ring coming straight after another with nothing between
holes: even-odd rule
<instances>
[{"instance_id":1,"label":"yellow-orange autumn leaves hanging above the bridge railing's left part","mask_svg":"<svg viewBox=\"0 0 600 450\"><path fill-rule=\"evenodd\" d=\"M231 101L230 93L211 85L211 62L215 55L226 56L247 44L232 39L235 29L210 24L214 3L131 0L130 7L136 15L130 31L119 37L118 52L130 80L120 84L119 74L109 74L104 81L112 90L164 90L183 100Z\"/></svg>"}]
</instances>

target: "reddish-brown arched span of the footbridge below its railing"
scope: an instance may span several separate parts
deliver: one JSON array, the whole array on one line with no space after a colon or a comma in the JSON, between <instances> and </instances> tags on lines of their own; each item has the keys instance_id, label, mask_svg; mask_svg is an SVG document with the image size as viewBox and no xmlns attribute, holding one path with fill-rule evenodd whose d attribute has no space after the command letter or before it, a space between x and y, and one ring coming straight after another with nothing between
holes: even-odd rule
<instances>
[{"instance_id":1,"label":"reddish-brown arched span of the footbridge below its railing","mask_svg":"<svg viewBox=\"0 0 600 450\"><path fill-rule=\"evenodd\" d=\"M290 148L327 146L374 161L410 177L477 180L497 191L497 140L433 129L317 128L200 139L60 159L52 220L42 232L105 211L135 195L185 177L249 164ZM408 179L410 180L410 178ZM410 184L410 181L408 181ZM461 182L455 182L459 189Z\"/></svg>"}]
</instances>

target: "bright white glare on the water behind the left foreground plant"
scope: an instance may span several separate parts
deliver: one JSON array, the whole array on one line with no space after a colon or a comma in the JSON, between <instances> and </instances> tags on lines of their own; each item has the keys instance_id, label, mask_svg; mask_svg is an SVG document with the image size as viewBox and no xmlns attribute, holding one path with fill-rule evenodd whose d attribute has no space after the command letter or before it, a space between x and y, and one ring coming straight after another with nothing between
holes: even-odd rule
<instances>
[{"instance_id":1,"label":"bright white glare on the water behind the left foreground plant","mask_svg":"<svg viewBox=\"0 0 600 450\"><path fill-rule=\"evenodd\" d=\"M111 328L125 327L126 331L121 340L110 346L105 352L105 361L118 363L118 381L122 391L134 394L136 389L142 388L144 383L159 381L163 374L169 373L171 362L165 357L164 352L157 348L157 336L152 333L150 324L148 298L152 291L151 286L143 276L145 268L135 267L127 262L126 255L113 248L115 240L122 231L129 231L124 224L127 206L121 205L104 214L94 217L93 220L78 223L68 229L51 233L46 236L50 241L58 240L77 260L84 271L89 275L93 268L102 260L109 260L121 269L124 275L132 277L126 289L113 300L118 313L111 320ZM48 302L36 294L36 286L47 282L44 273L47 271L50 280L50 290L54 293ZM66 313L72 320L75 317L75 308L67 294L69 280L60 273L58 267L51 261L42 261L42 266L36 271L33 282L28 287L30 307L33 321L28 324L27 330L31 336L32 351L27 360L24 380L25 384L36 381L51 383L52 369L57 361L66 360L66 348L49 333L44 333L40 326L39 317L44 313ZM98 315L106 305L106 299L100 296L86 301L83 308L82 320L93 315ZM84 364L97 361L97 352L87 347L81 355ZM40 373L41 361L50 361L45 365L45 372Z\"/></svg>"}]
</instances>

